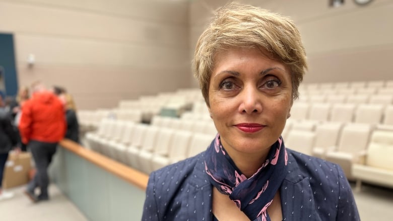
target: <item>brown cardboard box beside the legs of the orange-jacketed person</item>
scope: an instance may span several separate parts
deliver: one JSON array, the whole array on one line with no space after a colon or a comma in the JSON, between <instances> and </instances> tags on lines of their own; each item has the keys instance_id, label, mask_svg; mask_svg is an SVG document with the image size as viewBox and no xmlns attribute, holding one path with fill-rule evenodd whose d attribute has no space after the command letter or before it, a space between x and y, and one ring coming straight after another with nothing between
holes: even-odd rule
<instances>
[{"instance_id":1,"label":"brown cardboard box beside the legs of the orange-jacketed person","mask_svg":"<svg viewBox=\"0 0 393 221\"><path fill-rule=\"evenodd\" d=\"M10 152L3 175L3 188L24 185L29 182L31 154Z\"/></svg>"}]
</instances>

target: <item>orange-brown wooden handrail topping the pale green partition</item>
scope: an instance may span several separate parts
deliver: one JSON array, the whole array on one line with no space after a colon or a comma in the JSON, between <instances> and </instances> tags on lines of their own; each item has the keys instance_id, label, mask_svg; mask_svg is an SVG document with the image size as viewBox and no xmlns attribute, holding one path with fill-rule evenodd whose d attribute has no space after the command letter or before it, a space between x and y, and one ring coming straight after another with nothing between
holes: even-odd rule
<instances>
[{"instance_id":1,"label":"orange-brown wooden handrail topping the pale green partition","mask_svg":"<svg viewBox=\"0 0 393 221\"><path fill-rule=\"evenodd\" d=\"M117 177L120 177L121 179L129 183L136 185L143 190L146 190L149 180L148 175L133 168L130 168L124 164L121 164L117 161L114 161L108 157L105 157L99 153L86 149L72 140L62 139L59 144L64 149L73 152L74 154L90 161L91 163L101 167L102 169L116 175Z\"/></svg>"}]
</instances>

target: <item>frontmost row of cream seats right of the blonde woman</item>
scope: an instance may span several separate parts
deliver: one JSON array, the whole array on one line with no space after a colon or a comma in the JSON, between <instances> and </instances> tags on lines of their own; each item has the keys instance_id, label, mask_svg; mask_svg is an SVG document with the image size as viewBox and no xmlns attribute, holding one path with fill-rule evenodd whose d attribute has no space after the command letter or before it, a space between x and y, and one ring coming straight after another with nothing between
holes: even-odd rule
<instances>
[{"instance_id":1,"label":"frontmost row of cream seats right of the blonde woman","mask_svg":"<svg viewBox=\"0 0 393 221\"><path fill-rule=\"evenodd\" d=\"M349 180L393 188L393 130L372 124L287 121L288 148L339 164Z\"/></svg>"}]
</instances>

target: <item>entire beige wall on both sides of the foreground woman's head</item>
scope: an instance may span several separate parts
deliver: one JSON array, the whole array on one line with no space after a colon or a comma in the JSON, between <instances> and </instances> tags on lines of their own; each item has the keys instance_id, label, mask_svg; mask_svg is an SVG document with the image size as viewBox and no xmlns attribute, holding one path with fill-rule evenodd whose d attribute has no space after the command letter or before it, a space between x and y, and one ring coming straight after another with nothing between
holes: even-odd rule
<instances>
[{"instance_id":1,"label":"entire beige wall on both sides of the foreground woman's head","mask_svg":"<svg viewBox=\"0 0 393 221\"><path fill-rule=\"evenodd\" d=\"M190 60L225 0L0 0L0 32L15 36L20 85L60 85L80 109L115 107L197 83ZM393 79L393 0L243 0L290 16L303 36L305 83ZM27 64L33 53L36 62Z\"/></svg>"}]
</instances>

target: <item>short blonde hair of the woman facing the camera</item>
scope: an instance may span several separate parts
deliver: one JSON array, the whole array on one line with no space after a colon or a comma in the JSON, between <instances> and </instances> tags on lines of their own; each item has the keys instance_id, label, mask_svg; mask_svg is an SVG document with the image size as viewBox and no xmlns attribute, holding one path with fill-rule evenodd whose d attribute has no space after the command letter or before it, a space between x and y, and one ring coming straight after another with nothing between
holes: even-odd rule
<instances>
[{"instance_id":1,"label":"short blonde hair of the woman facing the camera","mask_svg":"<svg viewBox=\"0 0 393 221\"><path fill-rule=\"evenodd\" d=\"M306 52L292 20L261 8L230 3L217 10L195 47L192 68L208 106L214 56L229 48L259 48L287 65L292 80L292 99L307 69Z\"/></svg>"}]
</instances>

